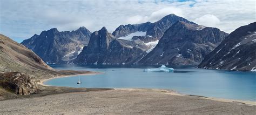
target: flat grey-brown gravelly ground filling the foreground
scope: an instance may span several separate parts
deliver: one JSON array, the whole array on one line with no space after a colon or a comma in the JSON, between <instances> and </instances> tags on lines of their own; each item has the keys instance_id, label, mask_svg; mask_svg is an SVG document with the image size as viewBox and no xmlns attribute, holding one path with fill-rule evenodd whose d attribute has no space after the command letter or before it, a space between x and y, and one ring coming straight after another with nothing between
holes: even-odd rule
<instances>
[{"instance_id":1,"label":"flat grey-brown gravelly ground filling the foreground","mask_svg":"<svg viewBox=\"0 0 256 115\"><path fill-rule=\"evenodd\" d=\"M45 86L49 87L49 86ZM55 88L55 87L52 87ZM85 89L85 88L84 88ZM58 91L58 89L55 89ZM74 89L76 90L76 89ZM82 90L82 89L80 89ZM89 89L87 89L89 90ZM158 89L77 91L2 100L2 114L256 114L256 106ZM69 89L69 91L71 91Z\"/></svg>"}]
</instances>

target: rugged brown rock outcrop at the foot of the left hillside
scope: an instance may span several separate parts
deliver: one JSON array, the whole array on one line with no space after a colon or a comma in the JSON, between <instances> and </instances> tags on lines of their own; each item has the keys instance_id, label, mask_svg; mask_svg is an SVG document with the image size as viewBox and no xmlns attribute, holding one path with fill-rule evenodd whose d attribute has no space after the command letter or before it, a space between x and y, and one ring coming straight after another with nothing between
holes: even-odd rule
<instances>
[{"instance_id":1,"label":"rugged brown rock outcrop at the foot of the left hillside","mask_svg":"<svg viewBox=\"0 0 256 115\"><path fill-rule=\"evenodd\" d=\"M0 73L0 85L18 95L28 95L39 91L36 79L22 72Z\"/></svg>"}]
</instances>

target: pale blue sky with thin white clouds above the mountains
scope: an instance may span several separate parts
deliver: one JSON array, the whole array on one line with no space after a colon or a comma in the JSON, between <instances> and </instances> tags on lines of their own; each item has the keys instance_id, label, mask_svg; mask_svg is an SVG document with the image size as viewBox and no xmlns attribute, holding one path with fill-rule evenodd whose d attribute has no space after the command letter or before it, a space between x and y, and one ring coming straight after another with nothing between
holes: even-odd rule
<instances>
[{"instance_id":1,"label":"pale blue sky with thin white clouds above the mountains","mask_svg":"<svg viewBox=\"0 0 256 115\"><path fill-rule=\"evenodd\" d=\"M103 26L156 22L171 13L227 33L256 21L254 0L0 0L0 33L21 43L57 28L91 32Z\"/></svg>"}]
</instances>

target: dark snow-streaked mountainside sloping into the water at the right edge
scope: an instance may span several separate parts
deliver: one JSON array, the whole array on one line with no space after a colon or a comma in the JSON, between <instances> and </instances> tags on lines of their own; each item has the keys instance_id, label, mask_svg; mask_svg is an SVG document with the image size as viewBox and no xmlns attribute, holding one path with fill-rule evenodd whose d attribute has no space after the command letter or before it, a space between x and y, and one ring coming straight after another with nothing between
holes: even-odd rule
<instances>
[{"instance_id":1,"label":"dark snow-streaked mountainside sloping into the water at the right edge","mask_svg":"<svg viewBox=\"0 0 256 115\"><path fill-rule=\"evenodd\" d=\"M256 22L231 32L198 67L256 71Z\"/></svg>"}]
</instances>

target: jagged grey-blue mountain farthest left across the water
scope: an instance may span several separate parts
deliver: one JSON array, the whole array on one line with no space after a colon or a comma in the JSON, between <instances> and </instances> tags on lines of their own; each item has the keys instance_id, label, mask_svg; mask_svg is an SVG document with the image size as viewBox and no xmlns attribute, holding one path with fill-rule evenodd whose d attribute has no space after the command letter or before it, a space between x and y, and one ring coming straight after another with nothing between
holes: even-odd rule
<instances>
[{"instance_id":1,"label":"jagged grey-blue mountain farthest left across the water","mask_svg":"<svg viewBox=\"0 0 256 115\"><path fill-rule=\"evenodd\" d=\"M59 32L56 28L42 31L24 40L21 44L31 49L44 62L49 64L66 64L77 57L90 40L91 32L84 26L76 31Z\"/></svg>"}]
</instances>

